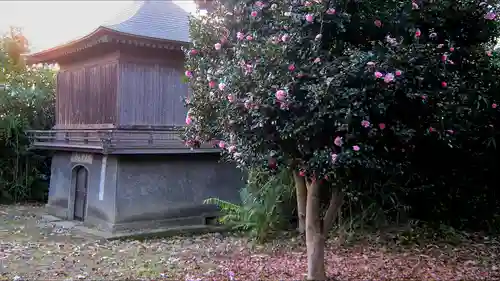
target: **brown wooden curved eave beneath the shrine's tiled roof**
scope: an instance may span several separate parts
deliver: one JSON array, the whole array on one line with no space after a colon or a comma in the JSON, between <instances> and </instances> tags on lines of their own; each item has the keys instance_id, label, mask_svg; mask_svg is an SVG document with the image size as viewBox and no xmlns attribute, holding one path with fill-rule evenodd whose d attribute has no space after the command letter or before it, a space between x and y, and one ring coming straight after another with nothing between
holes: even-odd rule
<instances>
[{"instance_id":1,"label":"brown wooden curved eave beneath the shrine's tiled roof","mask_svg":"<svg viewBox=\"0 0 500 281\"><path fill-rule=\"evenodd\" d=\"M189 44L189 42L139 36L100 26L89 35L80 39L76 39L44 51L28 54L26 56L26 62L28 64L57 63L61 57L77 53L103 43L128 44L138 47L151 47L169 50L180 50L181 46Z\"/></svg>"}]
</instances>

